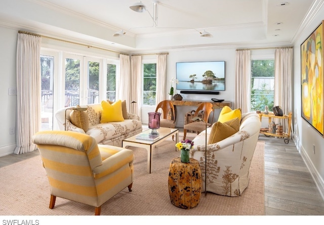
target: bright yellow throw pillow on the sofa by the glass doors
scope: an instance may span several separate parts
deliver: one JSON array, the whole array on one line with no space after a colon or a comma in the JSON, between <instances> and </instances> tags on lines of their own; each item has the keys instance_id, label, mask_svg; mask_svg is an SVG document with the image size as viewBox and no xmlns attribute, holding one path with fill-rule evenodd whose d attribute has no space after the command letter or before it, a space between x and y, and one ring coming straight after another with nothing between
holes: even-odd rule
<instances>
[{"instance_id":1,"label":"bright yellow throw pillow on the sofa by the glass doors","mask_svg":"<svg viewBox=\"0 0 324 225\"><path fill-rule=\"evenodd\" d=\"M101 108L102 108L102 112L101 112L100 123L124 121L120 100L112 104L109 104L106 101L102 101Z\"/></svg>"}]
</instances>

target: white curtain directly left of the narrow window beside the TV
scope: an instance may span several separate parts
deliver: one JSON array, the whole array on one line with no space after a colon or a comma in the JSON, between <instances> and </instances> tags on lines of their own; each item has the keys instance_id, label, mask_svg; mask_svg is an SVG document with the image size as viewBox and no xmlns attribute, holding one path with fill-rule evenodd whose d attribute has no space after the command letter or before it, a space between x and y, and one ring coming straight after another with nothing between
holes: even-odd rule
<instances>
[{"instance_id":1,"label":"white curtain directly left of the narrow window beside the TV","mask_svg":"<svg viewBox=\"0 0 324 225\"><path fill-rule=\"evenodd\" d=\"M131 56L130 112L141 117L141 65L142 56ZM133 102L133 103L132 103ZM136 103L135 103L136 102Z\"/></svg>"}]
</instances>

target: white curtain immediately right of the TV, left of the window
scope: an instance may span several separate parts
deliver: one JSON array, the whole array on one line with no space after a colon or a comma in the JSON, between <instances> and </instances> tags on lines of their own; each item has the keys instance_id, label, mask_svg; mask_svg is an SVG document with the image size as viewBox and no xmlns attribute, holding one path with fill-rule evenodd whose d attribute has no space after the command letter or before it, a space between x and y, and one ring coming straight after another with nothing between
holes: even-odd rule
<instances>
[{"instance_id":1,"label":"white curtain immediately right of the TV, left of the window","mask_svg":"<svg viewBox=\"0 0 324 225\"><path fill-rule=\"evenodd\" d=\"M250 77L250 50L236 50L234 108L240 108L242 113L250 111Z\"/></svg>"}]
</instances>

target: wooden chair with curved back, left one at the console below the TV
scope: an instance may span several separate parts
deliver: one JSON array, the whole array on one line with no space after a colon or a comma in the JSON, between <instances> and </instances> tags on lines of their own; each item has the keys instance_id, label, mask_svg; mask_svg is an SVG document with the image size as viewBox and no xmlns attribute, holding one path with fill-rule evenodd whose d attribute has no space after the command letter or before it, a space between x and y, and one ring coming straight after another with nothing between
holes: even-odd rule
<instances>
[{"instance_id":1,"label":"wooden chair with curved back, left one at the console below the TV","mask_svg":"<svg viewBox=\"0 0 324 225\"><path fill-rule=\"evenodd\" d=\"M157 104L155 112L158 112L159 109L162 110L162 118L160 119L160 127L175 128L176 127L176 112L174 105L169 100L164 100ZM171 112L169 114L169 112ZM174 136L172 136L174 140Z\"/></svg>"}]
</instances>

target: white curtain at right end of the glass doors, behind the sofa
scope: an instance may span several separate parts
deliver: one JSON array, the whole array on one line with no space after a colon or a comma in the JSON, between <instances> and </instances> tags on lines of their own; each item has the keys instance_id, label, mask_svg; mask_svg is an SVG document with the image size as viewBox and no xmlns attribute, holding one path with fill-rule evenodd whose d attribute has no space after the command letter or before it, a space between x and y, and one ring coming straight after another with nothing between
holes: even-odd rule
<instances>
[{"instance_id":1,"label":"white curtain at right end of the glass doors, behind the sofa","mask_svg":"<svg viewBox=\"0 0 324 225\"><path fill-rule=\"evenodd\" d=\"M130 89L131 89L131 62L130 56L119 54L120 77L118 79L118 96L117 99L126 100L127 109L130 109Z\"/></svg>"}]
</instances>

